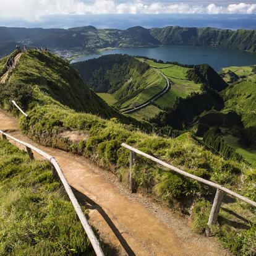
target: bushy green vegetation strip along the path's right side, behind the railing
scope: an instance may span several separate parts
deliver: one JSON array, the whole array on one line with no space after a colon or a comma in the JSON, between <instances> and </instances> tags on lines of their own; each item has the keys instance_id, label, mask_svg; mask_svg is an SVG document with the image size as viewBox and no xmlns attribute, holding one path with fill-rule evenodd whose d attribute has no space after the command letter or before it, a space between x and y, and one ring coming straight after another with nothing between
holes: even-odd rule
<instances>
[{"instance_id":1,"label":"bushy green vegetation strip along the path's right side, behind the railing","mask_svg":"<svg viewBox=\"0 0 256 256\"><path fill-rule=\"evenodd\" d=\"M33 61L36 65L38 61L36 56L33 57ZM26 60L21 59L19 65L26 66ZM45 65L47 66L46 62ZM56 75L59 72L61 74L61 67L59 69L54 71ZM19 67L17 72L19 72L18 70ZM30 70L27 70L27 72L31 74ZM28 74L24 75L28 79L27 83L31 79ZM19 82L17 76L16 79L16 82ZM22 79L22 82L25 83L26 81ZM11 87L12 82L9 82L6 90ZM116 118L108 120L95 114L77 113L74 109L70 109L53 100L51 95L41 92L40 88L35 85L34 87L36 88L36 93L33 94L33 99L28 104L27 109L30 118L20 117L20 128L37 142L90 158L106 170L113 171L124 184L128 184L129 151L122 148L121 143L127 143L167 163L184 169L184 171L221 183L239 194L256 200L255 169L250 168L246 163L224 160L221 156L214 155L211 151L206 150L203 145L192 139L189 133L182 134L174 139L164 138L157 134L146 134L132 125L121 123ZM30 87L23 87L23 90L26 92L26 90L30 90ZM17 93L22 92L18 90ZM45 103L38 105L36 104L38 100L45 101ZM0 98L0 105L4 106L4 104L7 103L2 102ZM88 134L88 138L75 143L59 136L64 130L81 131ZM137 190L150 194L151 197L155 197L157 200L179 209L186 208L182 205L182 202L187 202L187 198L192 202L197 202L199 198L207 200L208 195L212 193L207 187L184 176L174 174L139 156L136 158L132 175ZM242 214L240 212L241 207L232 205L230 209L236 215ZM252 220L253 226L255 220L251 216L255 216L255 210L248 207L248 205L242 205L242 209ZM63 220L65 219L63 218ZM197 220L198 225L205 226L204 218L200 217ZM221 222L220 228L220 234L216 233L216 236L220 237L223 244L229 249L233 250L233 246L237 244L237 239L240 239L233 236L236 239L232 238L232 240L229 236L231 231L238 230L239 234L244 237L239 240L242 248L249 248L249 245L252 244L245 240L252 240L252 235L249 231L254 232L254 229L249 229L248 231L244 227L233 229L233 222L230 221ZM237 249L236 254L242 255L245 249Z\"/></svg>"}]
</instances>

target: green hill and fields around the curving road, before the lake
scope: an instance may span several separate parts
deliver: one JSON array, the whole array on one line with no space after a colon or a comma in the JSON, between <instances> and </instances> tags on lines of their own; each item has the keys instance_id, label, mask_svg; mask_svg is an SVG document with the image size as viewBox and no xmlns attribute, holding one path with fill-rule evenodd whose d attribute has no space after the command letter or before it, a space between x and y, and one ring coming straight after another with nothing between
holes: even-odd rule
<instances>
[{"instance_id":1,"label":"green hill and fields around the curving road, before the lake","mask_svg":"<svg viewBox=\"0 0 256 256\"><path fill-rule=\"evenodd\" d=\"M216 81L223 82L220 86L226 85L207 65L194 67L171 62L164 64L153 59L121 54L77 62L72 66L79 70L84 82L95 92L108 93L105 95L106 102L113 105L114 97L117 101L114 106L121 111L145 103L160 93L166 88L162 74L166 75L171 82L171 89L145 109L131 114L137 119L155 117L172 107L177 98L186 98L192 92L200 92L202 82L210 87L215 87Z\"/></svg>"}]
</instances>

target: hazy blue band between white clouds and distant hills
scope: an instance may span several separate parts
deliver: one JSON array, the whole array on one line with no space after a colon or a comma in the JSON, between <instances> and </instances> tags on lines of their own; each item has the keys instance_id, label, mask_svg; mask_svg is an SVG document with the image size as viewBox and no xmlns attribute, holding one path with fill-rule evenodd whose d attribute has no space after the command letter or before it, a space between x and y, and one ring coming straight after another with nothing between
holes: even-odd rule
<instances>
[{"instance_id":1,"label":"hazy blue band between white clouds and distant hills","mask_svg":"<svg viewBox=\"0 0 256 256\"><path fill-rule=\"evenodd\" d=\"M100 16L100 17L99 17ZM110 17L111 16L111 17ZM211 27L229 30L255 30L256 29L256 15L207 15L201 14L195 17L192 14L178 14L178 15L86 15L74 17L72 15L65 15L63 17L55 17L54 22L51 19L46 19L45 23L28 23L28 22L0 22L0 27L9 28L74 28L74 27L88 27L93 26L98 29L113 28L125 30L130 27L144 27L144 28L163 28L168 26L179 27ZM100 18L100 19L99 19ZM111 19L110 19L111 18ZM16 24L19 23L19 26ZM63 25L65 23L65 25Z\"/></svg>"}]
</instances>

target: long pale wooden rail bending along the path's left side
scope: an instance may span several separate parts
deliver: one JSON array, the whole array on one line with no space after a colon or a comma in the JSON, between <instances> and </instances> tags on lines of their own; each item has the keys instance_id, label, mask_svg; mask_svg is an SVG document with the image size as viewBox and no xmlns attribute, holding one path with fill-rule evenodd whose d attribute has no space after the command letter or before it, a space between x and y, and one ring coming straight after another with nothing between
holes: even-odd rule
<instances>
[{"instance_id":1,"label":"long pale wooden rail bending along the path's left side","mask_svg":"<svg viewBox=\"0 0 256 256\"><path fill-rule=\"evenodd\" d=\"M75 197L71 187L69 186L69 183L67 182L67 179L64 176L64 173L62 172L61 168L59 167L59 164L56 161L56 159L53 156L48 155L44 151L41 151L40 149L34 147L33 145L30 145L26 142L22 142L22 140L16 139L16 138L12 137L11 135L6 134L5 132L2 132L2 130L0 130L0 134L2 135L2 139L9 138L11 140L14 140L16 143L23 145L26 148L28 156L31 159L33 159L33 152L32 152L32 150L33 150L36 153L38 153L39 155L43 156L43 158L48 160L51 164L53 164L54 171L56 171L56 173L58 173L59 179L61 179L61 182L67 192L67 195L69 196L69 199L70 199L73 207L75 208L75 212L79 216L79 220L82 223L83 229L85 229L85 233L87 234L88 238L90 239L93 249L95 250L95 254L97 256L104 256L103 250L100 247L100 243L99 243L98 239L96 238L95 234L93 233L93 230L92 230L90 224L88 223L87 218L83 214L82 208L80 207L79 202L77 201L77 198Z\"/></svg>"}]
</instances>

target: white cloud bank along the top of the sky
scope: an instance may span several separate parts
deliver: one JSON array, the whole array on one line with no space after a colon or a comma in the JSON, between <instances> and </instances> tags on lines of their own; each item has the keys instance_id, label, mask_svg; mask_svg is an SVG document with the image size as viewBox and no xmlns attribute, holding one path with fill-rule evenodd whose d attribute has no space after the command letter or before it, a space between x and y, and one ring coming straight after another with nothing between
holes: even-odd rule
<instances>
[{"instance_id":1,"label":"white cloud bank along the top of the sky","mask_svg":"<svg viewBox=\"0 0 256 256\"><path fill-rule=\"evenodd\" d=\"M64 14L256 14L256 4L209 3L198 1L168 3L141 0L116 2L115 0L0 0L0 19L40 21L45 15ZM216 2L216 1L215 1Z\"/></svg>"}]
</instances>

